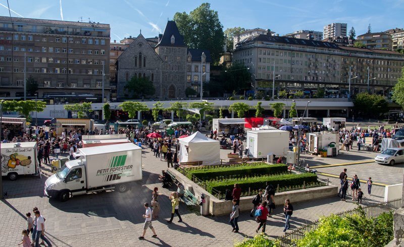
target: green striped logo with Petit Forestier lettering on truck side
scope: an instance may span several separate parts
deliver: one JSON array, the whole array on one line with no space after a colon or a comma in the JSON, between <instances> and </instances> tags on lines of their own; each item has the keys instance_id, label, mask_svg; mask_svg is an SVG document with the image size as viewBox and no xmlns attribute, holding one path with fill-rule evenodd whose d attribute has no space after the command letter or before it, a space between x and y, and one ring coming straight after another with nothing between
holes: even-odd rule
<instances>
[{"instance_id":1,"label":"green striped logo with Petit Forestier lettering on truck side","mask_svg":"<svg viewBox=\"0 0 404 247\"><path fill-rule=\"evenodd\" d=\"M125 165L126 157L126 154L111 157L107 168L97 170L96 176L104 176L104 181L113 181L130 175L133 165Z\"/></svg>"}]
</instances>

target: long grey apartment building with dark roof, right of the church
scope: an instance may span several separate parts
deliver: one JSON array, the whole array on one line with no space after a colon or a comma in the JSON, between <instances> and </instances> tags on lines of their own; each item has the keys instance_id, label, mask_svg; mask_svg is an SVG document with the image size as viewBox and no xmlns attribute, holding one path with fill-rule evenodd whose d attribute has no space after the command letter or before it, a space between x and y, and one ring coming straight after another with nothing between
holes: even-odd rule
<instances>
[{"instance_id":1,"label":"long grey apartment building with dark roof, right of the church","mask_svg":"<svg viewBox=\"0 0 404 247\"><path fill-rule=\"evenodd\" d=\"M302 90L313 95L318 88L327 94L370 91L388 95L401 76L404 55L394 51L338 46L336 43L259 35L237 44L233 63L250 68L256 90L271 92L275 70L276 92ZM275 64L274 64L275 63ZM375 79L373 79L375 78Z\"/></svg>"}]
</instances>

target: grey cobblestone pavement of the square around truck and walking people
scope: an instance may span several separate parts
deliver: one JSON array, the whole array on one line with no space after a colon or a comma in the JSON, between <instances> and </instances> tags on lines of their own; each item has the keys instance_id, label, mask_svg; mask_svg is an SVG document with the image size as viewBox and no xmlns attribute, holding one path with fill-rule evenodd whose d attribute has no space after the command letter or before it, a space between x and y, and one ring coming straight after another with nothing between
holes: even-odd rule
<instances>
[{"instance_id":1,"label":"grey cobblestone pavement of the square around truck and walking people","mask_svg":"<svg viewBox=\"0 0 404 247\"><path fill-rule=\"evenodd\" d=\"M226 152L227 151L227 152ZM228 153L222 151L222 156ZM127 193L102 192L71 198L65 203L49 200L43 196L46 179L39 177L21 177L17 181L4 180L4 190L8 198L0 202L0 246L15 246L21 239L21 230L26 227L25 213L37 206L46 218L46 234L55 246L232 246L235 241L256 235L257 223L249 213L241 213L239 218L240 233L232 233L228 216L198 216L197 209L180 205L182 223L174 218L172 224L166 223L171 213L171 203L167 196L170 191L163 189L158 182L158 175L165 169L166 163L153 156L145 148L143 160L143 186L135 186ZM348 173L352 167L348 166ZM393 167L396 168L396 167ZM397 167L399 168L399 167ZM44 168L45 170L46 168ZM322 168L324 172L334 172ZM333 168L334 169L334 168ZM336 171L341 167L335 167ZM393 171L392 171L393 172ZM383 174L383 173L382 173ZM384 173L385 174L385 173ZM396 173L400 177L401 173ZM376 179L374 179L376 180ZM338 179L330 178L332 184L338 185ZM158 238L151 238L151 231L146 239L138 240L143 228L143 203L151 199L154 187L164 195L160 197L162 210L160 218L153 221ZM174 189L174 188L173 188ZM382 190L383 189L383 190ZM375 187L374 195L364 204L382 200L384 188ZM293 203L293 202L292 202ZM291 220L292 228L318 219L323 215L337 213L355 208L352 201L341 202L337 197L293 204L295 212ZM281 235L284 225L282 208L275 210L269 218L267 234L271 237Z\"/></svg>"}]
</instances>

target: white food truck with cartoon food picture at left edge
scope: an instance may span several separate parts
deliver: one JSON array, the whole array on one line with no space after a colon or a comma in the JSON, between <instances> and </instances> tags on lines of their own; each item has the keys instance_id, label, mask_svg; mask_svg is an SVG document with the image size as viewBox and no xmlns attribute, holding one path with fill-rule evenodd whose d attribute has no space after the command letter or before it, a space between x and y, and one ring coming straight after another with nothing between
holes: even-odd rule
<instances>
[{"instance_id":1,"label":"white food truck with cartoon food picture at left edge","mask_svg":"<svg viewBox=\"0 0 404 247\"><path fill-rule=\"evenodd\" d=\"M36 142L2 143L2 176L16 180L18 175L39 174Z\"/></svg>"}]
</instances>

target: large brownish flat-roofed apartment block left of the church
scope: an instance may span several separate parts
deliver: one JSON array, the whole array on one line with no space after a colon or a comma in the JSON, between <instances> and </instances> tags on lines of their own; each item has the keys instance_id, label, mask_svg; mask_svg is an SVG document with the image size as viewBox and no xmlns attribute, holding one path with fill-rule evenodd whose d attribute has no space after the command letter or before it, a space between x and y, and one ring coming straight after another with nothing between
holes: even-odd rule
<instances>
[{"instance_id":1,"label":"large brownish flat-roofed apartment block left of the church","mask_svg":"<svg viewBox=\"0 0 404 247\"><path fill-rule=\"evenodd\" d=\"M108 100L109 49L109 24L1 16L0 96L24 96L26 59L26 76L37 83L38 98L102 102L104 68Z\"/></svg>"}]
</instances>

